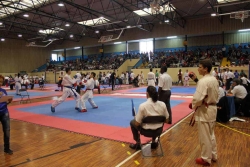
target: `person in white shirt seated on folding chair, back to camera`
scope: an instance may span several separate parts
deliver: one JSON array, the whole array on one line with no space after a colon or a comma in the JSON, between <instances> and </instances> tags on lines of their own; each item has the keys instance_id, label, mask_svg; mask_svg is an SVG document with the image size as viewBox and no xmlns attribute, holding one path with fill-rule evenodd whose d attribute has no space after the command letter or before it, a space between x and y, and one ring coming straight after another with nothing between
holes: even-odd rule
<instances>
[{"instance_id":1,"label":"person in white shirt seated on folding chair, back to camera","mask_svg":"<svg viewBox=\"0 0 250 167\"><path fill-rule=\"evenodd\" d=\"M132 149L140 149L140 138L138 131L140 130L142 119L146 116L165 116L166 122L168 122L168 111L165 103L158 101L158 92L154 86L148 86L147 88L147 101L142 103L139 106L138 113L135 116L135 119L130 122L131 131L133 133L133 138L136 141L136 144L130 144ZM161 128L162 124L146 124L142 128L144 130L156 130ZM158 143L156 143L155 138L152 138L151 148L157 148Z\"/></svg>"}]
</instances>

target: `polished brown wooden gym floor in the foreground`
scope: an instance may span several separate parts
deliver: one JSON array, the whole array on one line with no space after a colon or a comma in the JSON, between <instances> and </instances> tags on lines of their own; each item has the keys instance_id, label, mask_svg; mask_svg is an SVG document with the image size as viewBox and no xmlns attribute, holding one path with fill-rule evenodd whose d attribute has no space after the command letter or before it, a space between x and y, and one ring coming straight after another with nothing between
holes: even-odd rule
<instances>
[{"instance_id":1,"label":"polished brown wooden gym floor in the foreground","mask_svg":"<svg viewBox=\"0 0 250 167\"><path fill-rule=\"evenodd\" d=\"M49 100L41 98L32 102ZM18 105L14 102L11 105ZM218 161L214 167L250 166L250 126L246 122L217 123L215 134ZM0 153L0 166L18 167L196 167L200 156L197 127L190 127L190 117L168 130L161 138L163 157L143 158L141 151L134 151L116 141L105 140L11 120L11 149L13 155ZM230 128L231 127L231 128ZM0 131L2 137L2 131ZM0 140L0 151L3 142ZM153 153L157 153L156 150ZM145 148L146 153L151 153Z\"/></svg>"}]
</instances>

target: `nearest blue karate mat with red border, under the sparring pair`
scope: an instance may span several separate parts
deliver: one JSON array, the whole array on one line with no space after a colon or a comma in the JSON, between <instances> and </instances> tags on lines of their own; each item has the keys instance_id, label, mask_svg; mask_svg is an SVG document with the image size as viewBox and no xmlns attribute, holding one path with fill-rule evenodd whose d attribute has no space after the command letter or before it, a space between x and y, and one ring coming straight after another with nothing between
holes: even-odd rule
<instances>
[{"instance_id":1,"label":"nearest blue karate mat with red border, under the sparring pair","mask_svg":"<svg viewBox=\"0 0 250 167\"><path fill-rule=\"evenodd\" d=\"M145 98L132 97L136 110L139 104L145 102ZM77 132L110 140L133 143L130 129L130 121L133 119L131 97L108 97L96 96L94 101L98 109L92 109L87 102L88 112L77 112L74 100L67 100L56 107L56 112L51 113L50 106L53 101L39 102L35 104L23 104L10 106L10 117L21 121L35 123L67 131ZM188 109L188 100L171 100L173 124L165 124L164 130L179 122L187 116L191 110ZM149 141L142 138L142 142Z\"/></svg>"}]
</instances>

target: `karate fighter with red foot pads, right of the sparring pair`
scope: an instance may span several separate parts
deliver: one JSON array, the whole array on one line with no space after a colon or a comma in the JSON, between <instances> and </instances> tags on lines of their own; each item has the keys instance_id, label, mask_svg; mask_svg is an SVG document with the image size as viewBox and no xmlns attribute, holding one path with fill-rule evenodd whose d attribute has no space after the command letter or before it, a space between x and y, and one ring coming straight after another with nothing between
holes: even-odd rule
<instances>
[{"instance_id":1,"label":"karate fighter with red foot pads, right of the sparring pair","mask_svg":"<svg viewBox=\"0 0 250 167\"><path fill-rule=\"evenodd\" d=\"M84 83L84 85L86 86L86 92L84 93L84 95L81 98L81 103L82 103L82 110L81 112L87 112L86 106L85 106L85 102L88 100L90 105L95 109L98 108L98 106L95 104L95 102L92 100L93 99L93 89L94 89L94 85L95 85L95 78L96 74L94 72L91 72L90 74L90 79Z\"/></svg>"}]
</instances>

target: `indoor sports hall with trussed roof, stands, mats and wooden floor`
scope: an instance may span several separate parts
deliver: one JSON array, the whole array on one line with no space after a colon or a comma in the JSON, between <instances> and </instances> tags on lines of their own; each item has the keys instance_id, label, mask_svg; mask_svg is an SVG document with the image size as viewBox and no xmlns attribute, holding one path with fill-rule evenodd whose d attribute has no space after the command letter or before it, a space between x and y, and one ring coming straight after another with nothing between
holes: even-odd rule
<instances>
[{"instance_id":1,"label":"indoor sports hall with trussed roof, stands, mats and wooden floor","mask_svg":"<svg viewBox=\"0 0 250 167\"><path fill-rule=\"evenodd\" d=\"M210 59L211 75L223 89L228 69L242 84L245 78L249 94L249 12L249 0L1 1L0 93L12 99L13 154L5 150L6 100L0 94L0 167L202 166L195 161L201 156L198 123L190 126L197 87L190 73L201 79L199 62ZM163 66L172 78L172 123L163 125L156 149L144 135L142 148L131 149L130 121L147 101L148 74L152 69L159 90ZM71 94L52 112L67 89L68 68L72 79L80 75L74 88L81 97L96 74L91 91L98 107L86 101L83 112ZM214 128L218 159L210 166L248 167L249 96L237 106L236 95L226 90L226 113L217 103Z\"/></svg>"}]
</instances>

